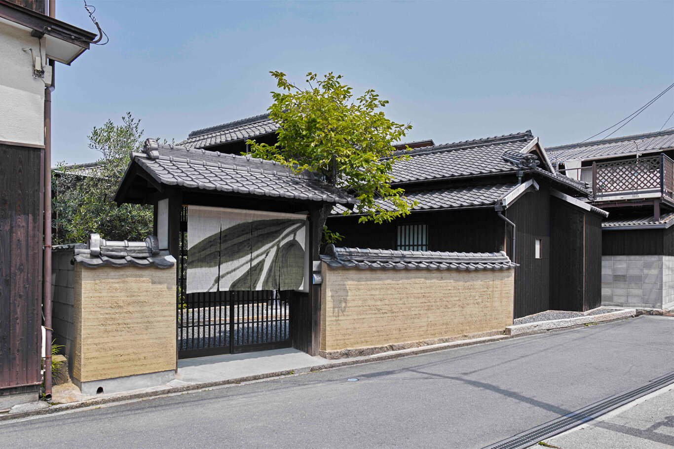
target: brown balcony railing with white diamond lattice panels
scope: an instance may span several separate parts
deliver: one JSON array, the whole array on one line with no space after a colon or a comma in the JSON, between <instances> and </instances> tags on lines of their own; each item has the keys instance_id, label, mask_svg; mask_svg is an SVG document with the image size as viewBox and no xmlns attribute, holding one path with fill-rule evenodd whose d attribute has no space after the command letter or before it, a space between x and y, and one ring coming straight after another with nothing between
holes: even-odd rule
<instances>
[{"instance_id":1,"label":"brown balcony railing with white diamond lattice panels","mask_svg":"<svg viewBox=\"0 0 674 449\"><path fill-rule=\"evenodd\" d=\"M645 196L648 193L674 198L674 160L659 154L638 159L594 162L592 191L597 199Z\"/></svg>"}]
</instances>

